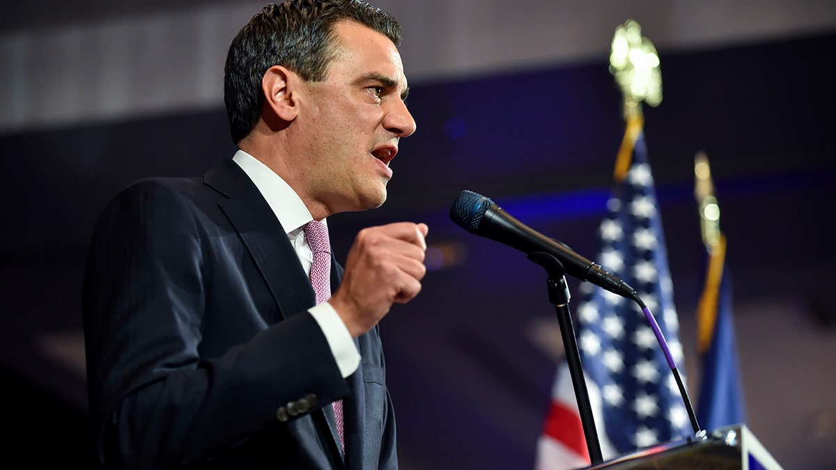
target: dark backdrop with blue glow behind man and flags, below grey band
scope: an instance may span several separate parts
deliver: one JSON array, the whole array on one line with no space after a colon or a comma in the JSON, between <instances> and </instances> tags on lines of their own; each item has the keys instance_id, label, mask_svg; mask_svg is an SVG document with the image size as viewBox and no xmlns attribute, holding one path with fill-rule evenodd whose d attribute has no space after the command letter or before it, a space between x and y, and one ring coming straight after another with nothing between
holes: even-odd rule
<instances>
[{"instance_id":1,"label":"dark backdrop with blue glow behind man and flags, below grey band","mask_svg":"<svg viewBox=\"0 0 836 470\"><path fill-rule=\"evenodd\" d=\"M836 34L819 33L662 54L665 100L645 109L691 396L702 150L729 240L747 424L788 468L836 465L834 53ZM414 220L447 255L381 324L403 467L529 468L560 350L545 274L447 212L471 189L593 256L623 133L619 90L606 59L412 88L419 130L392 163L390 199L329 218L334 248L344 255L360 227ZM92 467L79 289L94 218L130 181L202 174L231 156L226 116L18 130L0 148L3 455Z\"/></svg>"}]
</instances>

